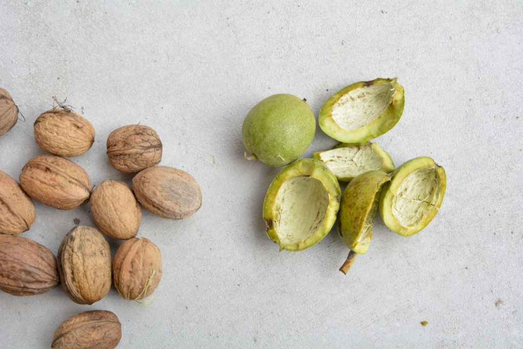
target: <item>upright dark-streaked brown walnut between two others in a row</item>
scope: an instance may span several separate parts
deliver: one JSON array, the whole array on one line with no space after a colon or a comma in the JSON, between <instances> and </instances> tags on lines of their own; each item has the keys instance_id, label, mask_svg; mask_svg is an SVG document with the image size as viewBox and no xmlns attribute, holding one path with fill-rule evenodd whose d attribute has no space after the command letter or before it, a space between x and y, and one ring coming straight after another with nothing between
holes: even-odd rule
<instances>
[{"instance_id":1,"label":"upright dark-streaked brown walnut between two others in a row","mask_svg":"<svg viewBox=\"0 0 523 349\"><path fill-rule=\"evenodd\" d=\"M67 233L58 249L62 287L78 304L93 304L111 288L111 250L95 228L78 226Z\"/></svg>"}]
</instances>

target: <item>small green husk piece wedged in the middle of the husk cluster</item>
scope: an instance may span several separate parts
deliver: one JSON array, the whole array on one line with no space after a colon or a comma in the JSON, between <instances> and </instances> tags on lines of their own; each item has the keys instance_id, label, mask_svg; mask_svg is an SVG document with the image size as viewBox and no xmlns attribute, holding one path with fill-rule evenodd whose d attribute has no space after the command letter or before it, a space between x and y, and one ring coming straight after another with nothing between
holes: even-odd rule
<instances>
[{"instance_id":1,"label":"small green husk piece wedged in the middle of the husk cluster","mask_svg":"<svg viewBox=\"0 0 523 349\"><path fill-rule=\"evenodd\" d=\"M342 143L334 149L315 152L313 157L325 163L338 181L343 182L350 182L367 171L394 171L391 156L378 143Z\"/></svg>"}]
</instances>

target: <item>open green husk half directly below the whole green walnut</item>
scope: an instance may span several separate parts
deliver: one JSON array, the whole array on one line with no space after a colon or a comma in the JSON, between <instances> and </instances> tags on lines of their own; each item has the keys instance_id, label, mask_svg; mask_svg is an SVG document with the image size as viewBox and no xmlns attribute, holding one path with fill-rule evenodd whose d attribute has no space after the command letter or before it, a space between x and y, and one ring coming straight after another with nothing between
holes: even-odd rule
<instances>
[{"instance_id":1,"label":"open green husk half directly below the whole green walnut","mask_svg":"<svg viewBox=\"0 0 523 349\"><path fill-rule=\"evenodd\" d=\"M313 246L336 222L341 190L325 164L298 160L272 181L263 206L268 237L280 251Z\"/></svg>"}]
</instances>

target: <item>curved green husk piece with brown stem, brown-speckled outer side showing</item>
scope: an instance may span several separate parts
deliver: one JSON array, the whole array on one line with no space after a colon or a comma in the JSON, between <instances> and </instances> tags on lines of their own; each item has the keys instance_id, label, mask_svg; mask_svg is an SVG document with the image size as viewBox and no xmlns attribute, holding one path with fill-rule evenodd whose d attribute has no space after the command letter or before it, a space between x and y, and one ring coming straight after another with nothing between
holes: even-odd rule
<instances>
[{"instance_id":1,"label":"curved green husk piece with brown stem, brown-speckled outer side showing","mask_svg":"<svg viewBox=\"0 0 523 349\"><path fill-rule=\"evenodd\" d=\"M347 260L339 270L347 274L356 254L365 254L372 238L372 219L378 210L380 189L391 176L380 170L360 174L351 181L339 208L338 234L349 247Z\"/></svg>"}]
</instances>

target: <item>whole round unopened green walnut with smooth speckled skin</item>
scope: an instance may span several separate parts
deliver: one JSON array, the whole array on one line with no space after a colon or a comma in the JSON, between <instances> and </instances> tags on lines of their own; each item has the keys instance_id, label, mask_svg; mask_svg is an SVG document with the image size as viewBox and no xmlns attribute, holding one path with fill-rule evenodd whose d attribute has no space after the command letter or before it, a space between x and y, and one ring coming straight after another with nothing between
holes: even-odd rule
<instances>
[{"instance_id":1,"label":"whole round unopened green walnut with smooth speckled skin","mask_svg":"<svg viewBox=\"0 0 523 349\"><path fill-rule=\"evenodd\" d=\"M316 131L311 107L294 95L272 95L248 112L242 127L245 148L269 166L285 166L309 147Z\"/></svg>"}]
</instances>

